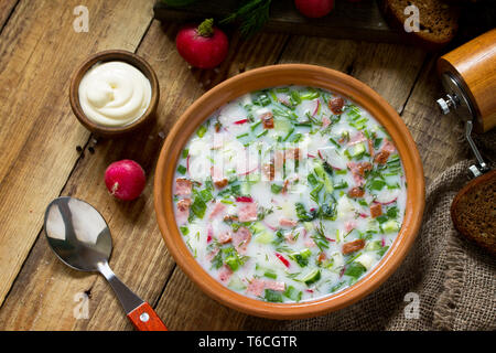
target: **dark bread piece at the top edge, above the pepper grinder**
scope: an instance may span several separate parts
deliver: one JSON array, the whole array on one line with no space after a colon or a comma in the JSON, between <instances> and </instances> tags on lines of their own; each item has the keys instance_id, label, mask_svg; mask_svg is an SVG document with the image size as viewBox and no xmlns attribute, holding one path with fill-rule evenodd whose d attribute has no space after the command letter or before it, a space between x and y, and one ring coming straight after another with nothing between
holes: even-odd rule
<instances>
[{"instance_id":1,"label":"dark bread piece at the top edge, above the pepper grinder","mask_svg":"<svg viewBox=\"0 0 496 353\"><path fill-rule=\"evenodd\" d=\"M405 21L411 17L405 14L405 9L412 4L419 9L419 32L405 31ZM379 0L379 8L388 24L403 33L407 42L430 51L450 43L459 29L460 9L443 0Z\"/></svg>"}]
</instances>

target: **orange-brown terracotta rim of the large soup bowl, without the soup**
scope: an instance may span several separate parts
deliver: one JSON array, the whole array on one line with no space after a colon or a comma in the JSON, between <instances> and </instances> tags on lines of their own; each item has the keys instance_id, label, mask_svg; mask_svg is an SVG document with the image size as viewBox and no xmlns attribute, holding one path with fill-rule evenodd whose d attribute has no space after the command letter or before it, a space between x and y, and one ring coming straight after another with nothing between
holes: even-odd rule
<instances>
[{"instance_id":1,"label":"orange-brown terracotta rim of the large soup bowl, without the soup","mask_svg":"<svg viewBox=\"0 0 496 353\"><path fill-rule=\"evenodd\" d=\"M172 182L182 148L200 124L216 109L245 93L291 84L322 87L346 96L367 109L388 130L406 172L407 207L400 233L389 250L375 268L355 285L313 301L272 303L247 298L224 287L196 263L175 224ZM324 314L349 306L377 289L398 268L413 244L425 203L421 159L416 142L398 113L358 79L338 71L308 64L280 64L255 68L218 84L196 99L175 122L162 147L154 175L153 194L162 237L169 252L188 278L211 298L229 308L271 319L303 319Z\"/></svg>"}]
</instances>

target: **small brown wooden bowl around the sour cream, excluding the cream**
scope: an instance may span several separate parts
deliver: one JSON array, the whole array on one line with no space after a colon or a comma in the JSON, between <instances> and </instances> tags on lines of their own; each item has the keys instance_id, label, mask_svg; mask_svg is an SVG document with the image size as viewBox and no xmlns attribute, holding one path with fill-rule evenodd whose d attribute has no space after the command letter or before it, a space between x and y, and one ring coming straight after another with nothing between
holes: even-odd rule
<instances>
[{"instance_id":1,"label":"small brown wooden bowl around the sour cream, excluding the cream","mask_svg":"<svg viewBox=\"0 0 496 353\"><path fill-rule=\"evenodd\" d=\"M86 72L97 63L105 63L112 61L128 63L138 68L139 71L141 71L143 75L150 81L152 89L150 105L148 109L144 111L144 114L136 121L122 127L108 127L91 121L90 119L88 119L88 117L86 117L86 114L83 111L83 108L79 104L79 93L78 93L79 84ZM85 128L87 128L89 131L94 132L99 137L106 138L120 137L142 127L148 121L150 121L151 118L154 118L157 113L157 106L159 105L159 98L160 98L160 88L159 88L159 79L157 78L155 72L150 66L150 64L147 63L142 57L128 51L108 50L96 53L86 58L79 65L79 67L75 71L71 79L69 99L73 113Z\"/></svg>"}]
</instances>

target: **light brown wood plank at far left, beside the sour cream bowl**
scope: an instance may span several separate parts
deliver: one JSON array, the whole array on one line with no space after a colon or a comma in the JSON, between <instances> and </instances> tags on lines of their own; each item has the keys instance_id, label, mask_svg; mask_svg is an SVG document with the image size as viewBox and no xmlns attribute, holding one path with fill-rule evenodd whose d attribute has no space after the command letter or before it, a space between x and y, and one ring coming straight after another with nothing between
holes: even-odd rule
<instances>
[{"instance_id":1,"label":"light brown wood plank at far left, beside the sour cream bowl","mask_svg":"<svg viewBox=\"0 0 496 353\"><path fill-rule=\"evenodd\" d=\"M68 104L69 77L89 53L134 50L152 1L86 1L89 32L76 33L78 1L21 1L0 36L0 303L88 140Z\"/></svg>"}]
</instances>

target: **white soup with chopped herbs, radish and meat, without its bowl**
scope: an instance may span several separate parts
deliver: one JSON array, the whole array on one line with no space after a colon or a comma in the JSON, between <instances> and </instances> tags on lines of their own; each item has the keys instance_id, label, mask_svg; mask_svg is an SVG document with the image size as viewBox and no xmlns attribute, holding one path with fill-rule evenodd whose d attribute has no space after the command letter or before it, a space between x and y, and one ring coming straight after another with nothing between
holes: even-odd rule
<instances>
[{"instance_id":1,"label":"white soup with chopped herbs, radish and meat, without its bowl","mask_svg":"<svg viewBox=\"0 0 496 353\"><path fill-rule=\"evenodd\" d=\"M300 302L376 266L401 227L406 189L395 145L366 110L284 86L239 97L196 130L173 203L212 277L250 298Z\"/></svg>"}]
</instances>

